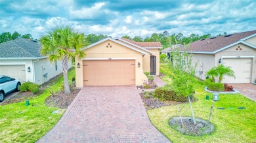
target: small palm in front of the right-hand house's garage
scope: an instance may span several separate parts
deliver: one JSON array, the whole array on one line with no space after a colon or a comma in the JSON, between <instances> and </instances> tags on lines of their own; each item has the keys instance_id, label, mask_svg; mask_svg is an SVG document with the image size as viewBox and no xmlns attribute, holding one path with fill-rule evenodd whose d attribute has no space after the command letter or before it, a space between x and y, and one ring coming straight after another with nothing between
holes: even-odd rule
<instances>
[{"instance_id":1,"label":"small palm in front of the right-hand house's garage","mask_svg":"<svg viewBox=\"0 0 256 143\"><path fill-rule=\"evenodd\" d=\"M230 67L225 67L223 64L218 65L216 67L216 70L219 74L219 83L221 83L223 81L223 76L229 76L229 77L236 78L236 76L234 75L234 71L232 71L232 69L230 69Z\"/></svg>"}]
</instances>

